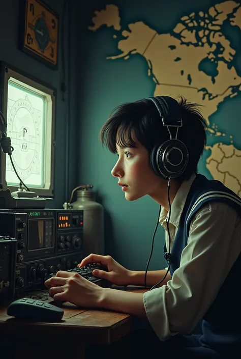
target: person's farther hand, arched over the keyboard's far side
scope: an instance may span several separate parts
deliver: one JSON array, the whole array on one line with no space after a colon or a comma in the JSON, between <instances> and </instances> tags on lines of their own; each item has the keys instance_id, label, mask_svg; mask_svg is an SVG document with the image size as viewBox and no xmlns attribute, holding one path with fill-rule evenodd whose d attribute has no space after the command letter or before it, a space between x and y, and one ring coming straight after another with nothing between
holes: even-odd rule
<instances>
[{"instance_id":1,"label":"person's farther hand, arched over the keyboard's far side","mask_svg":"<svg viewBox=\"0 0 241 359\"><path fill-rule=\"evenodd\" d=\"M90 254L78 264L78 267L81 268L88 263L98 263L108 268L108 271L94 269L93 275L95 275L95 277L106 279L117 286L130 284L131 271L117 263L112 257Z\"/></svg>"}]
</instances>

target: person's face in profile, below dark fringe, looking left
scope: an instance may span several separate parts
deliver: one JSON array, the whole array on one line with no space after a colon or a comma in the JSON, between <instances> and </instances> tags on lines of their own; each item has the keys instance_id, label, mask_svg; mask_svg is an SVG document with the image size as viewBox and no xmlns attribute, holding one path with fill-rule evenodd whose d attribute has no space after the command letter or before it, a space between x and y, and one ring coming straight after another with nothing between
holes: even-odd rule
<instances>
[{"instance_id":1,"label":"person's face in profile, below dark fringe, looking left","mask_svg":"<svg viewBox=\"0 0 241 359\"><path fill-rule=\"evenodd\" d=\"M140 144L137 144L137 148L120 148L116 144L116 150L118 160L111 174L118 178L120 190L124 191L126 199L135 201L145 195L155 199L157 194L159 197L165 182L150 168L149 153L146 148Z\"/></svg>"}]
</instances>

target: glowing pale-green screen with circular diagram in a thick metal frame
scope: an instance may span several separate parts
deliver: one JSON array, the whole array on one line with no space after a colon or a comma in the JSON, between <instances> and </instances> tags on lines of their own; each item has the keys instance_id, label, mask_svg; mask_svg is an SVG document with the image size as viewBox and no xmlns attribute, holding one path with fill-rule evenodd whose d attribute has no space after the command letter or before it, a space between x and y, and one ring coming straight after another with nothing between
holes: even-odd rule
<instances>
[{"instance_id":1,"label":"glowing pale-green screen with circular diagram in a thick metal frame","mask_svg":"<svg viewBox=\"0 0 241 359\"><path fill-rule=\"evenodd\" d=\"M14 167L38 196L53 198L56 89L6 63L0 69L0 109L14 148ZM1 183L16 191L19 179L2 151L0 163Z\"/></svg>"}]
</instances>

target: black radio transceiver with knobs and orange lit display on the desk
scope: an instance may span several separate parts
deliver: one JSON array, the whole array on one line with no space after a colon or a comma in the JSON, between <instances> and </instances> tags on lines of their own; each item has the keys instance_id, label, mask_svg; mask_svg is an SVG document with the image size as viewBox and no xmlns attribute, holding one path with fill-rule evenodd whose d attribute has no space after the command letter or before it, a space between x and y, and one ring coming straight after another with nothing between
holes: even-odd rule
<instances>
[{"instance_id":1,"label":"black radio transceiver with knobs and orange lit display on the desk","mask_svg":"<svg viewBox=\"0 0 241 359\"><path fill-rule=\"evenodd\" d=\"M0 283L1 280L7 283L5 285L13 288L12 296L19 296L26 289L43 286L46 275L74 268L80 263L83 258L83 211L2 209L0 235L5 239L2 246L9 256L8 261L12 262L0 271ZM15 239L15 253L13 245L9 250L10 238ZM14 268L12 274L7 273L8 268L9 271Z\"/></svg>"}]
</instances>

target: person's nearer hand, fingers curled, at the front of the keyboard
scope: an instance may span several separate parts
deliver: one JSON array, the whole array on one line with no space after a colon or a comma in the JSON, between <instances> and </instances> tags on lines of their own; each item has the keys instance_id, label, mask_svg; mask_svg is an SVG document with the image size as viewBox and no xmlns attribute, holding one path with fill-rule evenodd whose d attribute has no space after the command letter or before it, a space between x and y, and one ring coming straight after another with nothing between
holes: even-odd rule
<instances>
[{"instance_id":1,"label":"person's nearer hand, fingers curled, at the front of the keyboard","mask_svg":"<svg viewBox=\"0 0 241 359\"><path fill-rule=\"evenodd\" d=\"M102 297L103 288L78 273L59 270L44 284L54 300L70 301L78 307L97 308Z\"/></svg>"}]
</instances>

